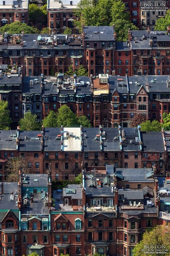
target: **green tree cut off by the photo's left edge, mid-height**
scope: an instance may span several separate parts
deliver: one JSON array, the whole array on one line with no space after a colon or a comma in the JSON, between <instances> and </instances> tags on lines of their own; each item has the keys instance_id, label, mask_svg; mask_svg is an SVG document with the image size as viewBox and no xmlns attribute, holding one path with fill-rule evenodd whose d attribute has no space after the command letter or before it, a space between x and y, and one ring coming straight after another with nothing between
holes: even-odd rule
<instances>
[{"instance_id":1,"label":"green tree cut off by the photo's left edge, mid-height","mask_svg":"<svg viewBox=\"0 0 170 256\"><path fill-rule=\"evenodd\" d=\"M0 130L10 129L10 111L8 109L8 101L0 100Z\"/></svg>"}]
</instances>

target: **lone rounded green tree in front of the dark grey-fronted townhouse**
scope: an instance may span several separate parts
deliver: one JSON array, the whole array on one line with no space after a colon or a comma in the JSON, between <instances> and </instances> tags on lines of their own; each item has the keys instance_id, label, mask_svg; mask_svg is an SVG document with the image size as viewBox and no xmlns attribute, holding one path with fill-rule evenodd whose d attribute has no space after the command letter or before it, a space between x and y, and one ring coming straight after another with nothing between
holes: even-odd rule
<instances>
[{"instance_id":1,"label":"lone rounded green tree in front of the dark grey-fronted townhouse","mask_svg":"<svg viewBox=\"0 0 170 256\"><path fill-rule=\"evenodd\" d=\"M27 130L27 131L41 130L41 122L37 120L36 114L32 114L30 111L25 113L24 117L19 120L19 126L21 130Z\"/></svg>"}]
</instances>

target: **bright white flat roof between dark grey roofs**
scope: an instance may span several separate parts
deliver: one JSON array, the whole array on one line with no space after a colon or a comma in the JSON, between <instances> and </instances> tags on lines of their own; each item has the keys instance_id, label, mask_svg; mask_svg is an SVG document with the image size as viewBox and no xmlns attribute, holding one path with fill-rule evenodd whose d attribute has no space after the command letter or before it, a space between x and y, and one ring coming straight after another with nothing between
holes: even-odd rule
<instances>
[{"instance_id":1,"label":"bright white flat roof between dark grey roofs","mask_svg":"<svg viewBox=\"0 0 170 256\"><path fill-rule=\"evenodd\" d=\"M66 133L73 133L67 138ZM78 128L63 128L63 151L81 151L81 130Z\"/></svg>"}]
</instances>

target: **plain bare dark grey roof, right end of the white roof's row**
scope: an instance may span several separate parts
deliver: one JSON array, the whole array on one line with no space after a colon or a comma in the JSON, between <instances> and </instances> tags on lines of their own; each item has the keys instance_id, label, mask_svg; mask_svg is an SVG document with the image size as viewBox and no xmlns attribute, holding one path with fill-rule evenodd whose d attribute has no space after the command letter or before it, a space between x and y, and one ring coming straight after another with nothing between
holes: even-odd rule
<instances>
[{"instance_id":1,"label":"plain bare dark grey roof, right end of the white roof's row","mask_svg":"<svg viewBox=\"0 0 170 256\"><path fill-rule=\"evenodd\" d=\"M141 140L144 152L164 152L164 142L161 131L142 131ZM158 147L159 145L159 147Z\"/></svg>"}]
</instances>

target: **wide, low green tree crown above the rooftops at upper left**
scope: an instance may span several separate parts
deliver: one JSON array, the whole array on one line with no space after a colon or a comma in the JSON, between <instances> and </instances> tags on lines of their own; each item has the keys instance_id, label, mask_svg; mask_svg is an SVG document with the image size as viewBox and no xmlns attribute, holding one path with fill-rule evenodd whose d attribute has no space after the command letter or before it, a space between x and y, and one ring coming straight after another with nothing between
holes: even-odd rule
<instances>
[{"instance_id":1,"label":"wide, low green tree crown above the rooftops at upper left","mask_svg":"<svg viewBox=\"0 0 170 256\"><path fill-rule=\"evenodd\" d=\"M0 33L7 32L9 34L21 34L22 30L25 34L36 34L39 30L36 27L28 26L26 23L21 23L19 21L6 24L0 28Z\"/></svg>"}]
</instances>

